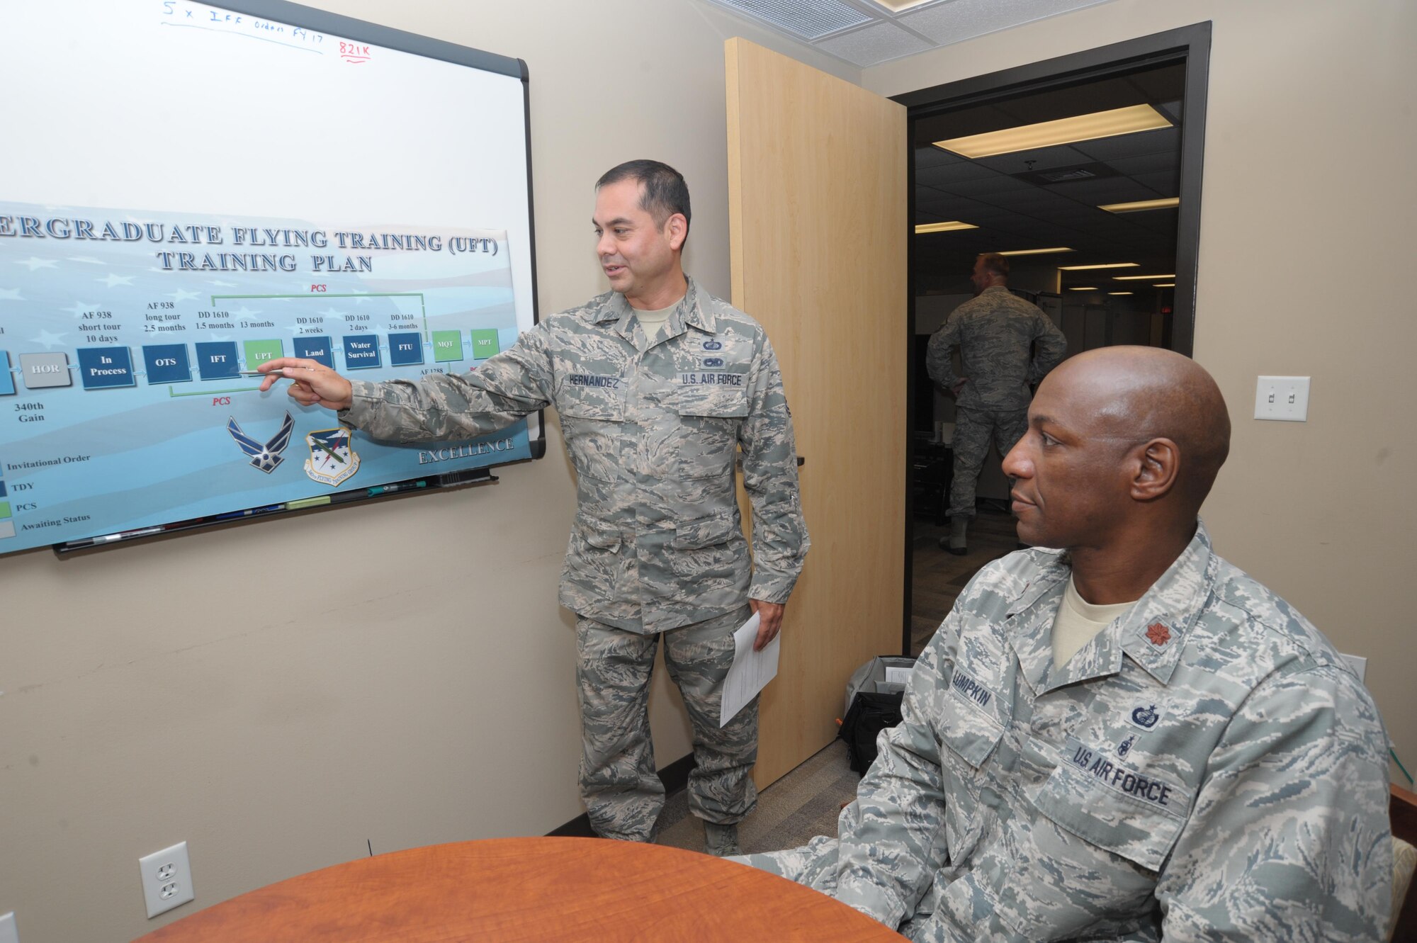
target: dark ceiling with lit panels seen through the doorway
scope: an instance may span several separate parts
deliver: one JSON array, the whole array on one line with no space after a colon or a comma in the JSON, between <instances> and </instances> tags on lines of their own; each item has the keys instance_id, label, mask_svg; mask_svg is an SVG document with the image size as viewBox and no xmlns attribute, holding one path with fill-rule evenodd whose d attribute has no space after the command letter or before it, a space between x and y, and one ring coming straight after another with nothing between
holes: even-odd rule
<instances>
[{"instance_id":1,"label":"dark ceiling with lit panels seen through the doorway","mask_svg":"<svg viewBox=\"0 0 1417 943\"><path fill-rule=\"evenodd\" d=\"M1180 193L1185 76L1185 65L1166 64L917 119L914 225L975 227L911 236L921 287L959 283L966 289L978 253L1041 248L1073 251L1022 256L1016 263L1135 263L1127 269L1066 270L1064 290L1084 285L1102 292L1141 290L1136 286L1149 282L1131 275L1175 273L1175 207L1134 212L1101 207ZM1153 109L1165 126L973 160L935 144L1138 105Z\"/></svg>"}]
</instances>

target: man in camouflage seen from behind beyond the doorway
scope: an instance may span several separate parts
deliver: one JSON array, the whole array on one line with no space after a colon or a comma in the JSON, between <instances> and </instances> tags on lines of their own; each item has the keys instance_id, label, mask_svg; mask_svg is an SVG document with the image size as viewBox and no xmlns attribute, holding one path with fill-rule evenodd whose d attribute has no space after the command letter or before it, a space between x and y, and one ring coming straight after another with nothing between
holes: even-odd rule
<instances>
[{"instance_id":1,"label":"man in camouflage seen from behind beyond the doorway","mask_svg":"<svg viewBox=\"0 0 1417 943\"><path fill-rule=\"evenodd\" d=\"M975 515L975 486L989 455L990 433L999 455L1009 455L1029 428L1029 388L1057 367L1067 350L1063 331L1049 316L1009 292L1009 259L993 252L981 255L969 279L975 297L956 307L930 338L925 360L930 378L955 396L955 469L945 548L958 555L968 551L966 528ZM951 362L955 350L962 377L955 375Z\"/></svg>"}]
</instances>

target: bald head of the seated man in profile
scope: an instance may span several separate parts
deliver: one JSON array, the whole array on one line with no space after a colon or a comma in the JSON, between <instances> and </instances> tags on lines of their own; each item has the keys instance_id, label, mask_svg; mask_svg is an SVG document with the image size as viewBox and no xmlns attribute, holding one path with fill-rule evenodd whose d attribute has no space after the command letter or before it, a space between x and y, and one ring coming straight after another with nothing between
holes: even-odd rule
<instances>
[{"instance_id":1,"label":"bald head of the seated man in profile","mask_svg":"<svg viewBox=\"0 0 1417 943\"><path fill-rule=\"evenodd\" d=\"M1019 479L1019 535L1105 539L1142 505L1193 524L1229 452L1224 398L1193 360L1155 347L1078 354L1044 378L1005 460Z\"/></svg>"}]
</instances>

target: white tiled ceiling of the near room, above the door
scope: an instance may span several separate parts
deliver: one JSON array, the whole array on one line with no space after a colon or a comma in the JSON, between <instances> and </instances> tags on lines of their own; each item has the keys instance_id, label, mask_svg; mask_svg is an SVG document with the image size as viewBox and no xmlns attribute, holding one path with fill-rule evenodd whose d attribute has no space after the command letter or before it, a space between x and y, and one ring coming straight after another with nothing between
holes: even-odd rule
<instances>
[{"instance_id":1,"label":"white tiled ceiling of the near room, above the door","mask_svg":"<svg viewBox=\"0 0 1417 943\"><path fill-rule=\"evenodd\" d=\"M1108 0L707 0L866 68Z\"/></svg>"}]
</instances>

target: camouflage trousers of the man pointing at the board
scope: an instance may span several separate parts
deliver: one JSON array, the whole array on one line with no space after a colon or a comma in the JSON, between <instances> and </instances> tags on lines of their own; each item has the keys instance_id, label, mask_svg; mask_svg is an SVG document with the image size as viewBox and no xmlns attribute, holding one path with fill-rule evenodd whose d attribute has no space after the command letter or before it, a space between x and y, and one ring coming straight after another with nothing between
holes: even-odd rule
<instances>
[{"instance_id":1,"label":"camouflage trousers of the man pointing at the board","mask_svg":"<svg viewBox=\"0 0 1417 943\"><path fill-rule=\"evenodd\" d=\"M743 606L723 616L660 633L665 667L679 687L694 732L689 810L714 824L741 820L758 799L758 701L718 726L723 680L733 664L733 631L747 622ZM581 701L581 800L591 827L605 838L653 841L665 807L649 738L649 675L657 634L575 620L575 680Z\"/></svg>"}]
</instances>

